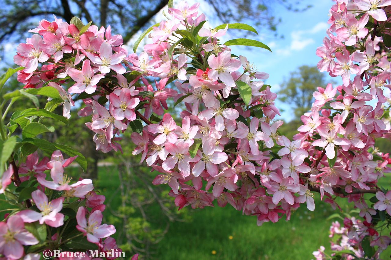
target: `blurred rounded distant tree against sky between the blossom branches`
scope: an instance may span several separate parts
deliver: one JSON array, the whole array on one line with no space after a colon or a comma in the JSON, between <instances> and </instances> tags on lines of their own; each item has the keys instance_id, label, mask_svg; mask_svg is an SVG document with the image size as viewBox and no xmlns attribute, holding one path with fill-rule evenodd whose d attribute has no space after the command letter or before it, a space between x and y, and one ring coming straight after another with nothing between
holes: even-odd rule
<instances>
[{"instance_id":1,"label":"blurred rounded distant tree against sky between the blossom branches","mask_svg":"<svg viewBox=\"0 0 391 260\"><path fill-rule=\"evenodd\" d=\"M326 75L319 72L316 66L303 65L292 71L291 76L281 84L278 99L291 105L296 118L300 119L314 102L312 93L316 87L326 87L328 83L334 82L326 79Z\"/></svg>"}]
</instances>

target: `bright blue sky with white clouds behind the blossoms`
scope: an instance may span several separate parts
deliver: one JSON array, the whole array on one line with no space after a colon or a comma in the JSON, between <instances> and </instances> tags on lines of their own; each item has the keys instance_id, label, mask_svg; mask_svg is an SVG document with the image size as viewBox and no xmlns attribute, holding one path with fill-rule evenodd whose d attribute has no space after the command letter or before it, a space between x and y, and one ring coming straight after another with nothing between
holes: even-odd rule
<instances>
[{"instance_id":1,"label":"bright blue sky with white clouds behind the blossoms","mask_svg":"<svg viewBox=\"0 0 391 260\"><path fill-rule=\"evenodd\" d=\"M174 1L179 2L178 0ZM197 2L188 0L189 4ZM202 0L200 9L206 16L212 16L208 5ZM313 5L312 8L304 12L291 12L276 5L274 14L282 18L282 22L278 25L278 34L282 34L284 39L265 36L269 33L264 30L259 36L249 36L251 39L264 42L268 45L273 53L260 48L232 48L232 52L248 57L250 62L253 62L258 71L269 73L270 77L265 82L272 85L272 91L277 92L284 78L289 77L289 73L294 71L301 65L316 65L319 57L316 56L316 48L321 46L322 40L326 35L328 28L328 10L334 2L331 0L304 0L301 6L308 4ZM163 18L162 14L158 14L155 18L159 21ZM235 21L232 21L235 22ZM216 21L211 22L211 27L215 26ZM230 32L231 31L231 32ZM224 40L235 38L235 30L229 30L230 34L224 36ZM271 34L271 33L270 33ZM133 37L133 40L138 36ZM5 60L12 63L13 55L16 51L15 43L5 44ZM129 48L130 49L130 48ZM277 107L285 110L282 112L282 118L285 120L292 119L292 113L289 111L289 106L276 100Z\"/></svg>"}]
</instances>

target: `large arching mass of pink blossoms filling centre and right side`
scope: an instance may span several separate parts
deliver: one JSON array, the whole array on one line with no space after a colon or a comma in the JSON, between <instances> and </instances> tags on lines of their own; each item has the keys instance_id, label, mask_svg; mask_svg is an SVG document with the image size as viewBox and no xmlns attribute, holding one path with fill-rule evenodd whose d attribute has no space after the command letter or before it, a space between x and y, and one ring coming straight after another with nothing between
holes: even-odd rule
<instances>
[{"instance_id":1,"label":"large arching mass of pink blossoms filling centre and right side","mask_svg":"<svg viewBox=\"0 0 391 260\"><path fill-rule=\"evenodd\" d=\"M385 195L377 181L390 170L389 155L374 147L375 139L391 136L383 92L391 75L382 39L389 37L388 4L339 0L333 5L328 37L317 50L318 67L341 76L343 85L318 87L294 141L278 132L283 121L275 120L276 94L262 81L269 75L231 53L232 41L220 43L230 25L206 28L199 4L169 8L171 19L151 28L152 43L139 55L129 54L110 27L55 19L31 30L38 34L18 46L14 61L25 67L18 80L26 88L59 90L64 116L74 100L83 100L79 116L92 115L87 126L95 132L97 150L121 150L118 141L130 126L133 154L160 173L153 183L169 184L179 209L213 206L217 200L221 207L229 203L256 215L261 225L283 215L289 220L302 203L314 210L313 192L319 192L334 207L335 198L348 197L371 224L386 208L373 209L364 193L377 192L381 201ZM159 81L151 83L151 77ZM175 87L169 85L173 80ZM176 118L164 111L169 98L184 107ZM61 187L56 181L39 183ZM78 228L88 230L80 223ZM371 241L382 237L369 235Z\"/></svg>"}]
</instances>

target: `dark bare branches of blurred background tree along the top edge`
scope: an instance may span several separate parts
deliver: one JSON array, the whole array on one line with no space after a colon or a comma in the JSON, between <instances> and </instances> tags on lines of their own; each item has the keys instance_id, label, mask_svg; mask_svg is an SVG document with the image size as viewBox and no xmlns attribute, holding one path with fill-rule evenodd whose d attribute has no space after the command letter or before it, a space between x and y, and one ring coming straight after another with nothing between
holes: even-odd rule
<instances>
[{"instance_id":1,"label":"dark bare branches of blurred background tree along the top edge","mask_svg":"<svg viewBox=\"0 0 391 260\"><path fill-rule=\"evenodd\" d=\"M301 5L303 0L205 0L215 16L223 23L251 23L258 30L265 28L276 32L281 18L274 9L285 7L302 11L310 6ZM115 34L121 34L124 43L151 23L169 0L4 0L0 9L0 43L10 39L19 41L28 29L36 27L41 19L51 20L52 14L68 23L73 16L93 21L98 26L111 25ZM211 16L213 17L213 16Z\"/></svg>"}]
</instances>

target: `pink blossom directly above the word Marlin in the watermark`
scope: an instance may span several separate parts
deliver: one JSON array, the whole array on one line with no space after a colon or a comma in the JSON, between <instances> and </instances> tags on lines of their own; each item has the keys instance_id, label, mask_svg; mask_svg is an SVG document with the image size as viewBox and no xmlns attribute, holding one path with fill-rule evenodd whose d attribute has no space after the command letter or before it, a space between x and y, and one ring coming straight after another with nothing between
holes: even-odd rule
<instances>
[{"instance_id":1,"label":"pink blossom directly above the word Marlin in the watermark","mask_svg":"<svg viewBox=\"0 0 391 260\"><path fill-rule=\"evenodd\" d=\"M113 225L102 224L102 212L96 210L88 217L88 224L86 221L86 209L79 207L77 210L76 228L80 232L83 232L87 236L87 240L91 243L100 245L99 240L105 237L109 237L115 233L115 227Z\"/></svg>"}]
</instances>

